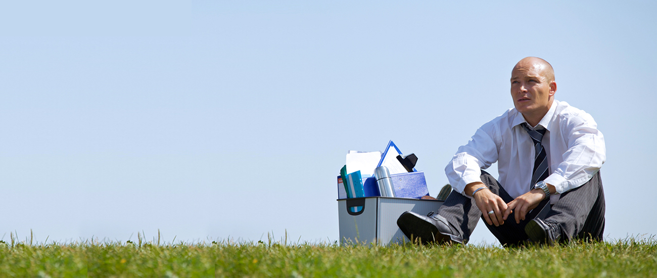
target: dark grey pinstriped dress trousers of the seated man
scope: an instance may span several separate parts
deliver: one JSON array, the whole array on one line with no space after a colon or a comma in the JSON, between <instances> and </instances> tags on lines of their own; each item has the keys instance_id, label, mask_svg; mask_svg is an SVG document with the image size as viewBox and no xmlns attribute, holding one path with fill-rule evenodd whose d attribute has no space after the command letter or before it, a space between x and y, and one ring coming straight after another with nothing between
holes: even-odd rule
<instances>
[{"instance_id":1,"label":"dark grey pinstriped dress trousers of the seated man","mask_svg":"<svg viewBox=\"0 0 657 278\"><path fill-rule=\"evenodd\" d=\"M501 197L502 200L507 203L513 200L492 175L482 170L481 178L491 192ZM438 214L447 219L461 233L464 243L469 241L479 218L483 219L482 212L474 199L464 197L456 191L449 194L447 200L440 206ZM580 238L602 241L604 191L602 190L600 171L593 175L587 183L563 193L555 204L550 205L549 200L543 200L519 224L515 220L515 211L499 227L484 223L501 244L514 246L528 239L525 225L534 218L559 223L564 241Z\"/></svg>"}]
</instances>

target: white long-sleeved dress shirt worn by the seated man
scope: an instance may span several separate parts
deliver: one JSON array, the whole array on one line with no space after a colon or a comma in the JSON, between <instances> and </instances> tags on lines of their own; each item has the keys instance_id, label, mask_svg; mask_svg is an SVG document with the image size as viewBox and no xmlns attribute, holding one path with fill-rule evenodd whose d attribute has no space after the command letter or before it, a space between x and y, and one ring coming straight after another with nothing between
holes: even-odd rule
<instances>
[{"instance_id":1,"label":"white long-sleeved dress shirt worn by the seated man","mask_svg":"<svg viewBox=\"0 0 657 278\"><path fill-rule=\"evenodd\" d=\"M521 126L524 122L524 116L512 108L477 129L445 167L452 187L465 195L465 185L482 181L480 169L497 162L497 181L512 198L532 190L535 149ZM547 129L541 144L551 173L545 183L556 188L557 194L551 198L554 204L560 193L583 185L600 170L606 159L604 137L591 115L565 101L555 100L533 128L542 127Z\"/></svg>"}]
</instances>

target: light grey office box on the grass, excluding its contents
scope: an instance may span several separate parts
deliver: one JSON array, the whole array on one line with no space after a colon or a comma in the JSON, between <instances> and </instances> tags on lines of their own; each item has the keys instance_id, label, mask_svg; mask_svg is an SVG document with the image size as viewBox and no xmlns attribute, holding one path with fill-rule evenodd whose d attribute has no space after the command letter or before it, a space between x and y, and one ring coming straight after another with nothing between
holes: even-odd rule
<instances>
[{"instance_id":1,"label":"light grey office box on the grass, excluding its contents","mask_svg":"<svg viewBox=\"0 0 657 278\"><path fill-rule=\"evenodd\" d=\"M397 218L410 210L418 214L437 212L439 200L415 198L365 197L338 200L340 245L376 243L390 245L409 241L397 226ZM362 206L359 212L348 208Z\"/></svg>"}]
</instances>

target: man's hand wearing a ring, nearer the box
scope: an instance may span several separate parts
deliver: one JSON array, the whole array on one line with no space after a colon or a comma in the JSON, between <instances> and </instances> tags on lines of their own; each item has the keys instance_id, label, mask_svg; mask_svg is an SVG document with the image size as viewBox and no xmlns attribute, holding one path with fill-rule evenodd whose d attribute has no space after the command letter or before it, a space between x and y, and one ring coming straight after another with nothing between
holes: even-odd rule
<instances>
[{"instance_id":1,"label":"man's hand wearing a ring, nearer the box","mask_svg":"<svg viewBox=\"0 0 657 278\"><path fill-rule=\"evenodd\" d=\"M472 196L472 192L481 187L486 187L484 183L474 182L468 183L465 186L465 193ZM482 189L477 191L477 194L474 196L474 201L477 203L477 207L484 214L484 220L488 225L495 225L496 227L504 224L503 214L507 210L507 204L499 196L493 194L488 189ZM488 214L489 211L495 212L495 214Z\"/></svg>"}]
</instances>

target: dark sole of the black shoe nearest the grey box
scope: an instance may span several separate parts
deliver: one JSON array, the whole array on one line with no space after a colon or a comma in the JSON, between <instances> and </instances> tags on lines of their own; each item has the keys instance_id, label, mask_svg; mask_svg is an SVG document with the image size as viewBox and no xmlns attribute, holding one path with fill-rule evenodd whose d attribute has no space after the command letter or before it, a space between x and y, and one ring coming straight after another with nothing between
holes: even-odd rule
<instances>
[{"instance_id":1,"label":"dark sole of the black shoe nearest the grey box","mask_svg":"<svg viewBox=\"0 0 657 278\"><path fill-rule=\"evenodd\" d=\"M411 239L411 241L417 241L419 239L422 244L433 243L434 241L436 243L451 243L451 237L449 235L443 235L434 224L409 212L405 212L399 216L397 226L399 226L401 232L407 238Z\"/></svg>"}]
</instances>

